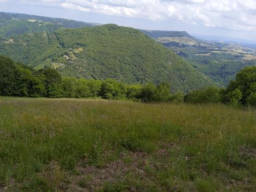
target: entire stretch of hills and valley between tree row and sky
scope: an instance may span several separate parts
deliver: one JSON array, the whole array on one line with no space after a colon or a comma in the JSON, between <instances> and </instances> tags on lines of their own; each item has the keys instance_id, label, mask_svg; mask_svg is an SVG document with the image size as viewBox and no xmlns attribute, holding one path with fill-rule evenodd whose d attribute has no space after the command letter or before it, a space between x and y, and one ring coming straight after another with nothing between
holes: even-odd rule
<instances>
[{"instance_id":1,"label":"entire stretch of hills and valley between tree row and sky","mask_svg":"<svg viewBox=\"0 0 256 192\"><path fill-rule=\"evenodd\" d=\"M140 30L158 44L138 35L139 30L116 25L67 30L98 25L0 12L1 54L37 70L54 67L63 76L125 83L166 80L173 92L226 87L240 70L256 65L251 46L200 40L185 31Z\"/></svg>"}]
</instances>

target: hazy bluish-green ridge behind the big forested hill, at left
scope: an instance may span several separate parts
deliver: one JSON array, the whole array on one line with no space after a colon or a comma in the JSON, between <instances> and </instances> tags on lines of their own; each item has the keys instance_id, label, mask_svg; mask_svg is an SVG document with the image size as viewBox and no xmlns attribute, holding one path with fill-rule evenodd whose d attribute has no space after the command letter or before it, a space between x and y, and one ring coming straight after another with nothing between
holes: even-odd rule
<instances>
[{"instance_id":1,"label":"hazy bluish-green ridge behind the big forested hill, at left","mask_svg":"<svg viewBox=\"0 0 256 192\"><path fill-rule=\"evenodd\" d=\"M99 24L44 16L0 12L0 38L14 34L54 32L61 28L81 28Z\"/></svg>"}]
</instances>

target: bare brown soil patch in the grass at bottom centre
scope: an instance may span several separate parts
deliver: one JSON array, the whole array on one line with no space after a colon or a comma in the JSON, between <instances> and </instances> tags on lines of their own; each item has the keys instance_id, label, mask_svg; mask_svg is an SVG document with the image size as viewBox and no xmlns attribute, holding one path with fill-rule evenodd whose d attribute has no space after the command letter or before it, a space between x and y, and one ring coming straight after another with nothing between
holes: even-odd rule
<instances>
[{"instance_id":1,"label":"bare brown soil patch in the grass at bottom centre","mask_svg":"<svg viewBox=\"0 0 256 192\"><path fill-rule=\"evenodd\" d=\"M100 168L94 165L84 166L80 162L76 168L79 175L72 176L71 184L67 189L68 191L95 191L105 182L124 181L129 174L143 179L146 177L146 172L140 167L147 157L148 154L142 152L120 153L120 160L107 163ZM125 162L128 158L129 162Z\"/></svg>"}]
</instances>

